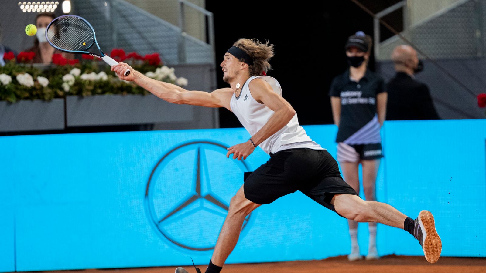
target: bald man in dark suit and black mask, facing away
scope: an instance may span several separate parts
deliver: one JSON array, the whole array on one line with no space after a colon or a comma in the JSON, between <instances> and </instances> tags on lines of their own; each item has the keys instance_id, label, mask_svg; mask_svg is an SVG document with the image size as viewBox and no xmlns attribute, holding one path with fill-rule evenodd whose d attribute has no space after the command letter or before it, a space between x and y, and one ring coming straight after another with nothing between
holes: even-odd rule
<instances>
[{"instance_id":1,"label":"bald man in dark suit and black mask, facing away","mask_svg":"<svg viewBox=\"0 0 486 273\"><path fill-rule=\"evenodd\" d=\"M417 51L411 46L396 47L391 55L397 74L386 85L387 120L440 119L430 96L429 87L415 80L423 69Z\"/></svg>"}]
</instances>

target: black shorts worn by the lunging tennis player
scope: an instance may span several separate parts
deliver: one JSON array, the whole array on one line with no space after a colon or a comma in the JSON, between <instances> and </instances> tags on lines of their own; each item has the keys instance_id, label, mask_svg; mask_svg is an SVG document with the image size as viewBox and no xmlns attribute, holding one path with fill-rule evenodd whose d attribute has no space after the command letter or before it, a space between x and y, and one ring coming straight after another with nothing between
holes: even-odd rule
<instances>
[{"instance_id":1,"label":"black shorts worn by the lunging tennis player","mask_svg":"<svg viewBox=\"0 0 486 273\"><path fill-rule=\"evenodd\" d=\"M354 194L341 177L336 160L326 150L297 148L270 153L270 160L253 172L245 172L244 195L251 202L270 204L300 190L315 202L336 211L335 194Z\"/></svg>"}]
</instances>

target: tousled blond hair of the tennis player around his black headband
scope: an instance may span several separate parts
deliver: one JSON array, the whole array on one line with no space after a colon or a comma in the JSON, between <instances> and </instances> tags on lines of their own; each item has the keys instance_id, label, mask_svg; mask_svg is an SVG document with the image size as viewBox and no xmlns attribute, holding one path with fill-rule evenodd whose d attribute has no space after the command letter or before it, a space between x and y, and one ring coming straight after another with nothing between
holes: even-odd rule
<instances>
[{"instance_id":1,"label":"tousled blond hair of the tennis player around his black headband","mask_svg":"<svg viewBox=\"0 0 486 273\"><path fill-rule=\"evenodd\" d=\"M268 41L263 44L258 39L245 39L240 38L233 46L238 47L246 52L252 59L253 65L248 67L250 75L260 76L262 72L267 73L272 69L270 66L270 58L275 54L273 52L274 45L269 45ZM240 60L243 61L243 60Z\"/></svg>"}]
</instances>

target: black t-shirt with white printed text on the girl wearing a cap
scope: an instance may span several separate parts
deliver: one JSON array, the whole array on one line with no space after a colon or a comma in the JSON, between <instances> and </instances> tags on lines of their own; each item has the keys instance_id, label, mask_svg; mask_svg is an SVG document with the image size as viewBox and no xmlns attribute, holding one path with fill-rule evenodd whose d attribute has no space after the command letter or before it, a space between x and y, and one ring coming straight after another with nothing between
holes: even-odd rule
<instances>
[{"instance_id":1,"label":"black t-shirt with white printed text on the girl wearing a cap","mask_svg":"<svg viewBox=\"0 0 486 273\"><path fill-rule=\"evenodd\" d=\"M376 112L376 95L381 92L385 92L382 77L369 69L366 69L359 82L349 79L349 69L332 80L329 96L341 98L341 118L336 142L381 142Z\"/></svg>"}]
</instances>

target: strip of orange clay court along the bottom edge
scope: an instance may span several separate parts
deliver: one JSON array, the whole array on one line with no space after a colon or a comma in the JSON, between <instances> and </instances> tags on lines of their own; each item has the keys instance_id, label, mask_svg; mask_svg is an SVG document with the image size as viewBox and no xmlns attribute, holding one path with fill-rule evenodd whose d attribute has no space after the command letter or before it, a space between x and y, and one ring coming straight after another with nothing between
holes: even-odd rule
<instances>
[{"instance_id":1,"label":"strip of orange clay court along the bottom edge","mask_svg":"<svg viewBox=\"0 0 486 273\"><path fill-rule=\"evenodd\" d=\"M198 266L204 273L206 265ZM185 266L189 273L194 267ZM84 273L174 273L175 267L128 268L83 270ZM79 273L80 271L51 271L49 273ZM278 263L228 264L222 273L486 273L486 258L441 257L435 264L429 264L424 257L384 256L376 261L348 262L346 256L324 260L292 261Z\"/></svg>"}]
</instances>

